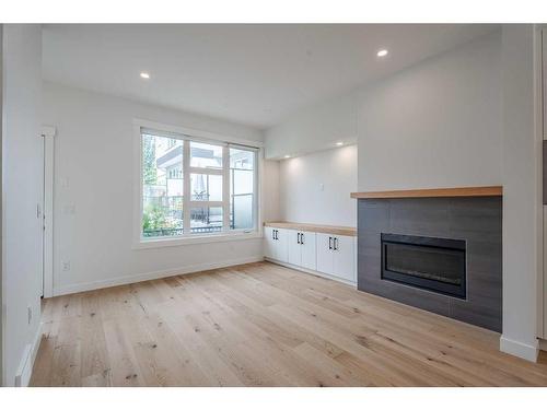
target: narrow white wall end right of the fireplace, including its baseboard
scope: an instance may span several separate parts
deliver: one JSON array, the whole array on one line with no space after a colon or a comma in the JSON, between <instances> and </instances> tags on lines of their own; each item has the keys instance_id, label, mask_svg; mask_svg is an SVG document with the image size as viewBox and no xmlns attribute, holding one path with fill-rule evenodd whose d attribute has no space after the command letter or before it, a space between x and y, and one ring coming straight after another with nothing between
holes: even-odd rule
<instances>
[{"instance_id":1,"label":"narrow white wall end right of the fireplace, including its baseboard","mask_svg":"<svg viewBox=\"0 0 547 410\"><path fill-rule=\"evenodd\" d=\"M542 136L536 130L534 26L505 25L503 67L503 336L501 349L535 360L540 274Z\"/></svg>"}]
</instances>

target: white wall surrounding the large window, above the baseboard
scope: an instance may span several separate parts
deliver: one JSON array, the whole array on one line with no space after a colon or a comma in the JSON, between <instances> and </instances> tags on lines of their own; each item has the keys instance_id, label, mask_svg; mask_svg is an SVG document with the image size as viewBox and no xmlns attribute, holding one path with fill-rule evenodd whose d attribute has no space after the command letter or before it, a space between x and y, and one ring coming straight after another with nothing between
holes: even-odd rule
<instances>
[{"instance_id":1,"label":"white wall surrounding the large window, above the baseboard","mask_svg":"<svg viewBox=\"0 0 547 410\"><path fill-rule=\"evenodd\" d=\"M133 118L260 141L258 130L47 82L44 110L44 122L57 127L54 293L263 256L261 239L131 248ZM70 261L69 271L62 261Z\"/></svg>"}]
</instances>

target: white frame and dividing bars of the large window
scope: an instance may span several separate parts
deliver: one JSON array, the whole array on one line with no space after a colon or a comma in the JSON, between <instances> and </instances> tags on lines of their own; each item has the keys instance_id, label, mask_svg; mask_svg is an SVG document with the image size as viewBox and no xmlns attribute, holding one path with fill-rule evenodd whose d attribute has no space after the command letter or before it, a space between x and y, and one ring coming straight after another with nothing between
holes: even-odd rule
<instances>
[{"instance_id":1,"label":"white frame and dividing bars of the large window","mask_svg":"<svg viewBox=\"0 0 547 410\"><path fill-rule=\"evenodd\" d=\"M184 232L185 234L176 237L158 237L158 238L143 238L142 237L142 129L150 129L158 131L159 134L165 134L181 139L184 144L189 144L190 141L211 143L223 147L222 161L230 162L230 144L249 147L257 150L256 153L256 178L254 187L254 210L255 210L255 229L253 230L230 230L230 165L223 166L222 169L190 167L189 149L183 149L183 173L186 175L190 173L222 175L222 201L185 201L183 208L184 212ZM228 241L245 241L263 237L263 212L261 212L261 180L263 180L263 159L264 159L264 144L259 141L245 140L237 137L230 137L209 131L202 131L186 127L165 125L161 122L149 121L144 119L133 119L133 249L156 248L164 246L181 246L190 244L202 244L213 242L228 242ZM224 164L223 164L224 165ZM184 196L190 198L190 185L185 179ZM189 204L189 206L186 206ZM189 233L190 226L190 209L193 207L223 207L223 230L216 233L207 234L191 234Z\"/></svg>"}]
</instances>

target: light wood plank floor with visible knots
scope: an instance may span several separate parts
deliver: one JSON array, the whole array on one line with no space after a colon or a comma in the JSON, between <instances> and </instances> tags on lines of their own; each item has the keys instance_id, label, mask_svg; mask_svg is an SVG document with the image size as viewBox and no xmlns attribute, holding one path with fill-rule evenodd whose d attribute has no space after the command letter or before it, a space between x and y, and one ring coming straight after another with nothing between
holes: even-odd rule
<instances>
[{"instance_id":1,"label":"light wood plank floor with visible knots","mask_svg":"<svg viewBox=\"0 0 547 410\"><path fill-rule=\"evenodd\" d=\"M34 386L547 386L498 333L268 262L44 311Z\"/></svg>"}]
</instances>

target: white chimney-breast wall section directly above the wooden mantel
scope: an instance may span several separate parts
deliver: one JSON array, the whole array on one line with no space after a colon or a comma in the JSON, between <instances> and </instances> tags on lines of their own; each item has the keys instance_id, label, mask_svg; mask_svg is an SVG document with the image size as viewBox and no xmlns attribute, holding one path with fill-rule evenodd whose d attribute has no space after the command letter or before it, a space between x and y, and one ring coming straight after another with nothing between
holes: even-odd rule
<instances>
[{"instance_id":1,"label":"white chimney-breast wall section directly above the wooden mantel","mask_svg":"<svg viewBox=\"0 0 547 410\"><path fill-rule=\"evenodd\" d=\"M500 33L361 92L360 191L501 185Z\"/></svg>"}]
</instances>

